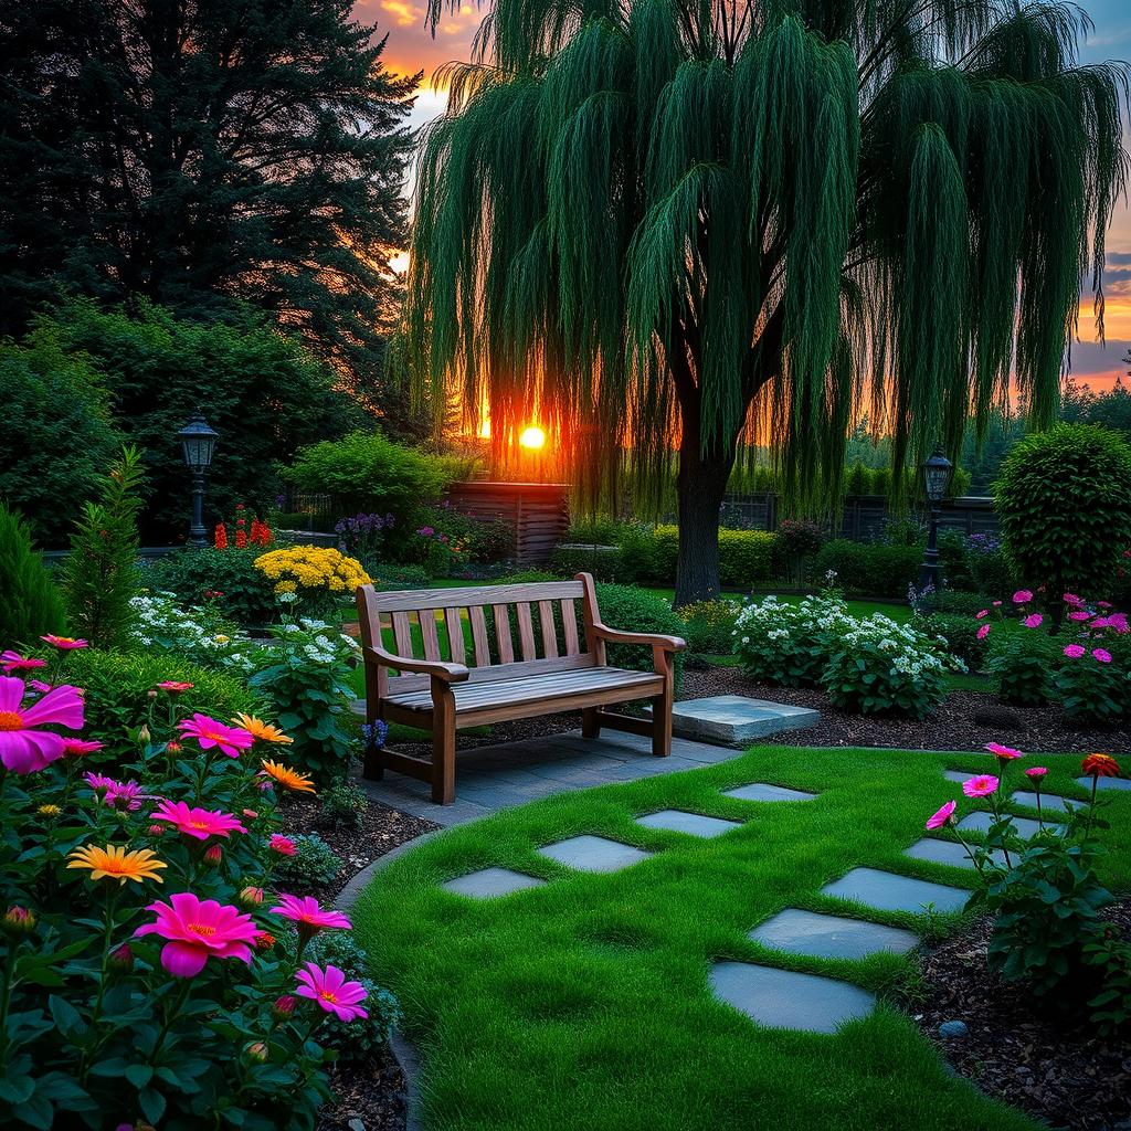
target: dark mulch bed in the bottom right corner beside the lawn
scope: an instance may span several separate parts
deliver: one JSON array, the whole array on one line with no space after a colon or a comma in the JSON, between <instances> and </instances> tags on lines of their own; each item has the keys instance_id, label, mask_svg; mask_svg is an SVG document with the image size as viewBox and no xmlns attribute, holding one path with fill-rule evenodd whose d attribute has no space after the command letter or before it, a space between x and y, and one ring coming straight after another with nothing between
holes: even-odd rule
<instances>
[{"instance_id":1,"label":"dark mulch bed in the bottom right corner beside the lawn","mask_svg":"<svg viewBox=\"0 0 1131 1131\"><path fill-rule=\"evenodd\" d=\"M1131 935L1131 901L1108 918ZM960 1076L1054 1128L1131 1129L1131 1044L1096 1035L1087 1021L1043 1015L1022 987L986 967L988 920L932 950L923 962L926 1004L912 1003L923 1033ZM965 1037L943 1039L943 1021Z\"/></svg>"}]
</instances>

